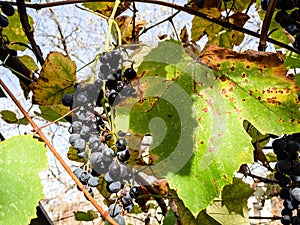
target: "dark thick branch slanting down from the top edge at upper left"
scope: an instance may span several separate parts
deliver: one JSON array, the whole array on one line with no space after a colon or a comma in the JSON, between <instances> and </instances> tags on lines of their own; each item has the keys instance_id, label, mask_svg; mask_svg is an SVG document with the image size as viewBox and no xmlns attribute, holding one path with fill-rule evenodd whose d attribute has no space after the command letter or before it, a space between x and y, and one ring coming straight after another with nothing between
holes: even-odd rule
<instances>
[{"instance_id":1,"label":"dark thick branch slanting down from the top edge at upper left","mask_svg":"<svg viewBox=\"0 0 300 225\"><path fill-rule=\"evenodd\" d=\"M29 25L28 22L28 16L27 16L27 12L26 12L26 5L24 0L17 0L17 6L18 6L18 12L19 12L19 16L20 16L20 21L23 27L23 30L31 44L32 47L32 51L34 53L34 55L36 56L37 60L39 61L39 63L41 65L44 64L44 58L43 58L43 54L42 51L40 49L40 47L36 44L34 37L33 37L33 30L31 29L31 26Z\"/></svg>"}]
</instances>

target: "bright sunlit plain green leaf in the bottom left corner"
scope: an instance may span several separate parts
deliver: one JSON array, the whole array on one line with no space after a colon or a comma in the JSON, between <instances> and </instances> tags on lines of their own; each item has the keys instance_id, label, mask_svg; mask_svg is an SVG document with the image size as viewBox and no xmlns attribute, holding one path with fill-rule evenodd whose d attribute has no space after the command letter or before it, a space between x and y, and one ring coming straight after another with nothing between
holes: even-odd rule
<instances>
[{"instance_id":1,"label":"bright sunlit plain green leaf in the bottom left corner","mask_svg":"<svg viewBox=\"0 0 300 225\"><path fill-rule=\"evenodd\" d=\"M47 169L47 149L32 136L15 136L0 143L0 221L29 224L43 198L39 172Z\"/></svg>"}]
</instances>

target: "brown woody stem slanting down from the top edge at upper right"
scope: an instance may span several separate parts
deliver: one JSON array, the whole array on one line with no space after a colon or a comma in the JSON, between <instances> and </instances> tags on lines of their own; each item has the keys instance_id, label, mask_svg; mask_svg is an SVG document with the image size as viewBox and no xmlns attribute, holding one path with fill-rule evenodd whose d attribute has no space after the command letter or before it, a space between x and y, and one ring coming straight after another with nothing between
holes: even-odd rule
<instances>
[{"instance_id":1,"label":"brown woody stem slanting down from the top edge at upper right","mask_svg":"<svg viewBox=\"0 0 300 225\"><path fill-rule=\"evenodd\" d=\"M277 4L277 0L270 0L270 2L269 2L266 16L264 18L264 22L263 22L263 25L261 28L258 51L266 50L269 28L270 28L271 20L272 20L274 11L275 11L276 4Z\"/></svg>"}]
</instances>

